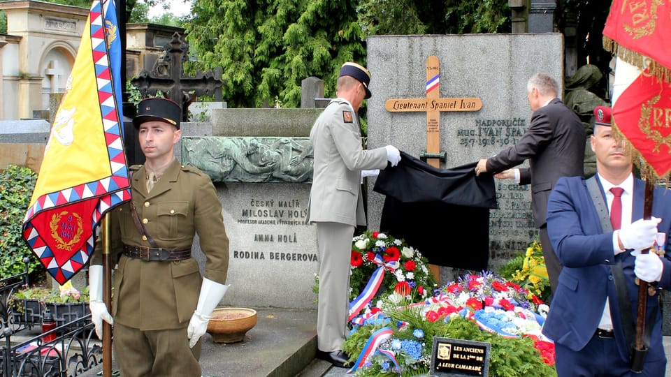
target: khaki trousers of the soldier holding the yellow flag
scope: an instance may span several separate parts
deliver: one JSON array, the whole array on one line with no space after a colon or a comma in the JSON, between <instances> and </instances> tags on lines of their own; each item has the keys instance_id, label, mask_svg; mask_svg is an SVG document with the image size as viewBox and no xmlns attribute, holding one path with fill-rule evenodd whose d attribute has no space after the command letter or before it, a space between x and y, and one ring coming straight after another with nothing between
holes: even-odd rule
<instances>
[{"instance_id":1,"label":"khaki trousers of the soldier holding the yellow flag","mask_svg":"<svg viewBox=\"0 0 671 377\"><path fill-rule=\"evenodd\" d=\"M189 348L187 327L143 331L114 324L113 349L123 377L200 377L201 338Z\"/></svg>"}]
</instances>

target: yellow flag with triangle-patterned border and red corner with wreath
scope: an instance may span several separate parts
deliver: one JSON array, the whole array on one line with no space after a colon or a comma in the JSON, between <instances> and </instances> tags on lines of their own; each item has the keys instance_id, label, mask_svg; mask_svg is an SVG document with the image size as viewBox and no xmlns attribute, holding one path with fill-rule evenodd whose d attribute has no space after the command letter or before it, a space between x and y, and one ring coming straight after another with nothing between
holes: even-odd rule
<instances>
[{"instance_id":1,"label":"yellow flag with triangle-patterned border and red corner with wreath","mask_svg":"<svg viewBox=\"0 0 671 377\"><path fill-rule=\"evenodd\" d=\"M122 137L123 37L114 0L94 0L24 218L24 239L59 284L88 262L103 215L131 198Z\"/></svg>"}]
</instances>

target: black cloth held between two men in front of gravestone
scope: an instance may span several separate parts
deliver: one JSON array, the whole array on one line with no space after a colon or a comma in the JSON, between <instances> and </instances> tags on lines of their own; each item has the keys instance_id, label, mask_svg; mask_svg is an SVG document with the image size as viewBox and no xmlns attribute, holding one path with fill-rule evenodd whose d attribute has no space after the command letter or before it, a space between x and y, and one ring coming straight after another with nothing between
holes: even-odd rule
<instances>
[{"instance_id":1,"label":"black cloth held between two men in front of gravestone","mask_svg":"<svg viewBox=\"0 0 671 377\"><path fill-rule=\"evenodd\" d=\"M380 231L417 249L433 265L482 270L489 262L489 209L498 208L492 175L475 165L433 168L401 151L380 170L373 191L387 195Z\"/></svg>"}]
</instances>

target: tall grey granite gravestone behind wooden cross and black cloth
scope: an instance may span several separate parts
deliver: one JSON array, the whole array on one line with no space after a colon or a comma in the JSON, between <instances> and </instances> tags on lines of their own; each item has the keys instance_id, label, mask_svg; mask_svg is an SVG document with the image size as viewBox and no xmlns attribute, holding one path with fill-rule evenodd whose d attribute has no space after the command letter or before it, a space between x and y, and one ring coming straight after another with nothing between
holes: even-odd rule
<instances>
[{"instance_id":1,"label":"tall grey granite gravestone behind wooden cross and black cloth","mask_svg":"<svg viewBox=\"0 0 671 377\"><path fill-rule=\"evenodd\" d=\"M440 167L473 163L514 145L531 117L526 99L528 78L543 72L560 86L563 82L562 38L561 34L368 38L367 66L373 76L368 147L391 144L416 157L426 152L426 113L391 112L385 109L385 102L426 96L426 61L433 55L440 64L440 98L482 101L478 111L440 113L440 152L445 156ZM384 197L372 187L368 185L368 228L375 230L380 225ZM512 180L496 180L499 209L489 214L490 269L525 251L537 237L530 190ZM449 252L449 239L445 239L445 252Z\"/></svg>"}]
</instances>

